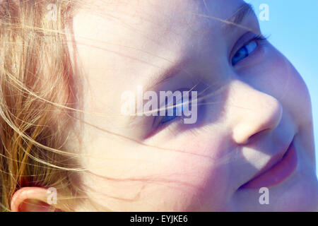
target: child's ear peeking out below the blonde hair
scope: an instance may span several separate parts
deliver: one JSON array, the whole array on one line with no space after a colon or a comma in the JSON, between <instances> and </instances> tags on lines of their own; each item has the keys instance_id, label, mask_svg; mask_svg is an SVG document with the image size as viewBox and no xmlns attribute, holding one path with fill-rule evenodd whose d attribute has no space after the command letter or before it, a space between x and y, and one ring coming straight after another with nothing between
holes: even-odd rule
<instances>
[{"instance_id":1,"label":"child's ear peeking out below the blonde hair","mask_svg":"<svg viewBox=\"0 0 318 226\"><path fill-rule=\"evenodd\" d=\"M50 205L51 191L42 187L24 187L18 189L11 198L13 212L59 212L61 210Z\"/></svg>"}]
</instances>

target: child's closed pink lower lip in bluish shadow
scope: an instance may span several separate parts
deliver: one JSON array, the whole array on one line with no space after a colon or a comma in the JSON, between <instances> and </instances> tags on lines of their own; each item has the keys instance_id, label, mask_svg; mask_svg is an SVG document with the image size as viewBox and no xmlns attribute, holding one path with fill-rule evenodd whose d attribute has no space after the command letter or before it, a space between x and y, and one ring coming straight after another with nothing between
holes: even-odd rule
<instances>
[{"instance_id":1,"label":"child's closed pink lower lip in bluish shadow","mask_svg":"<svg viewBox=\"0 0 318 226\"><path fill-rule=\"evenodd\" d=\"M297 153L293 143L290 145L285 155L276 165L268 171L252 179L241 186L243 189L259 189L261 187L274 186L280 184L294 172L297 167Z\"/></svg>"}]
</instances>

